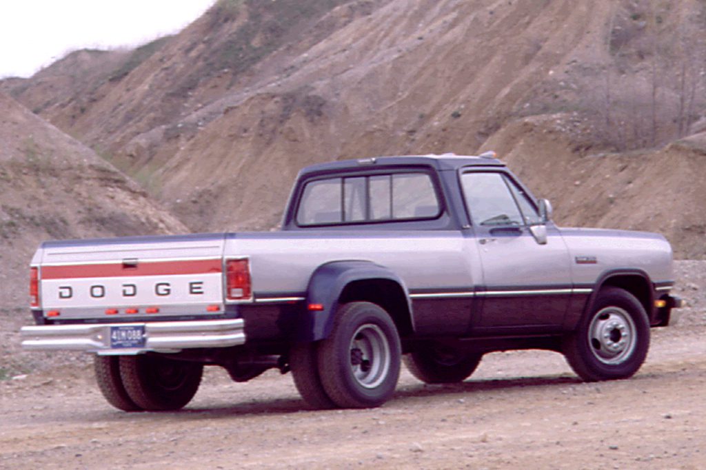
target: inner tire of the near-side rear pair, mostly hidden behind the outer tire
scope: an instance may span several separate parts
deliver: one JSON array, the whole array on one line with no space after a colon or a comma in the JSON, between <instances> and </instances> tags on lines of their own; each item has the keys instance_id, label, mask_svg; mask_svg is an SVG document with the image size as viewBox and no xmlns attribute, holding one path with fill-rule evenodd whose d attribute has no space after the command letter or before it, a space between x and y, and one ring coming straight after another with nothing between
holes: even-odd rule
<instances>
[{"instance_id":1,"label":"inner tire of the near-side rear pair, mostly hidden behind the outer tire","mask_svg":"<svg viewBox=\"0 0 706 470\"><path fill-rule=\"evenodd\" d=\"M317 343L295 344L289 351L289 367L292 368L294 385L304 401L313 409L332 409L336 404L323 389L316 361Z\"/></svg>"}]
</instances>

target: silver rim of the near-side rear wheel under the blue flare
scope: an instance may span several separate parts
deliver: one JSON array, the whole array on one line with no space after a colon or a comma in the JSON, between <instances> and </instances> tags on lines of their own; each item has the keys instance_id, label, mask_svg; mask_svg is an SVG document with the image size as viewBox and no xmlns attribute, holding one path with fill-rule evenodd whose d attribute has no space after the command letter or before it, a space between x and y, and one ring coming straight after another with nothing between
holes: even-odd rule
<instances>
[{"instance_id":1,"label":"silver rim of the near-side rear wheel under the blue flare","mask_svg":"<svg viewBox=\"0 0 706 470\"><path fill-rule=\"evenodd\" d=\"M350 342L350 368L354 379L365 388L380 385L390 372L390 344L378 325L361 325Z\"/></svg>"}]
</instances>

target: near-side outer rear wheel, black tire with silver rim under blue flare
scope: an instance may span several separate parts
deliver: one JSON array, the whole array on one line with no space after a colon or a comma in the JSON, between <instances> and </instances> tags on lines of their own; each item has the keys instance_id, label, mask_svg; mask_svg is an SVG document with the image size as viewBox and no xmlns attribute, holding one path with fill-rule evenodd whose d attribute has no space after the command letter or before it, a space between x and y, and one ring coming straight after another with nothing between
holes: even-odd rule
<instances>
[{"instance_id":1,"label":"near-side outer rear wheel, black tire with silver rim under blue flare","mask_svg":"<svg viewBox=\"0 0 706 470\"><path fill-rule=\"evenodd\" d=\"M318 347L323 388L342 408L380 406L395 392L401 353L397 328L383 308L347 303L337 312L330 337Z\"/></svg>"}]
</instances>

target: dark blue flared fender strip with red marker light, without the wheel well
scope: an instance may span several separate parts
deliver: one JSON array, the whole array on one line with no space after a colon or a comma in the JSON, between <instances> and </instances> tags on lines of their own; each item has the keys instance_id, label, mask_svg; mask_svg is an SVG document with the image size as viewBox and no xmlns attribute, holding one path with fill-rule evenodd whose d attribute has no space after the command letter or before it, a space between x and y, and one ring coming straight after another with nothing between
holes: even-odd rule
<instances>
[{"instance_id":1,"label":"dark blue flared fender strip with red marker light, without the wheel well","mask_svg":"<svg viewBox=\"0 0 706 470\"><path fill-rule=\"evenodd\" d=\"M412 322L412 303L405 283L387 267L371 261L345 260L332 261L316 268L306 288L306 311L298 328L297 340L313 342L325 339L333 328L333 320L339 307L339 299L345 288L352 282L382 280L397 284L405 296L406 314ZM318 306L318 310L309 310Z\"/></svg>"}]
</instances>

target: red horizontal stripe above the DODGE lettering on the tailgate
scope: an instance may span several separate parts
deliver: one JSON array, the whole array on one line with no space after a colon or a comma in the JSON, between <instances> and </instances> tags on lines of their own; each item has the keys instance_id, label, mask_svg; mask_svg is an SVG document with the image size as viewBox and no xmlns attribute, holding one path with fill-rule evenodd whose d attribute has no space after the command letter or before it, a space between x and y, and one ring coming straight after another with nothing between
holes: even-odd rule
<instances>
[{"instance_id":1,"label":"red horizontal stripe above the DODGE lettering on the tailgate","mask_svg":"<svg viewBox=\"0 0 706 470\"><path fill-rule=\"evenodd\" d=\"M123 263L42 266L42 279L188 275L209 272L222 272L221 260L143 261L138 262L136 267L126 267Z\"/></svg>"}]
</instances>

